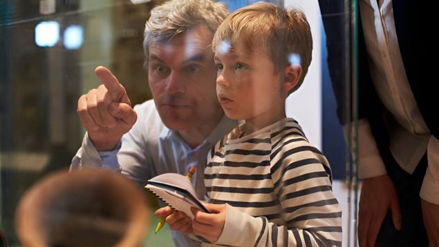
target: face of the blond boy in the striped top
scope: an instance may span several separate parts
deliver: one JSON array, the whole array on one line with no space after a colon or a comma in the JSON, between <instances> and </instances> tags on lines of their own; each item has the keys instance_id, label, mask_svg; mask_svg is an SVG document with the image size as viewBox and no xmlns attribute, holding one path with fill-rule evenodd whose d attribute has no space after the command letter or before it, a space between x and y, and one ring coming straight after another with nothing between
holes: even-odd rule
<instances>
[{"instance_id":1,"label":"face of the blond boy in the striped top","mask_svg":"<svg viewBox=\"0 0 439 247\"><path fill-rule=\"evenodd\" d=\"M265 51L250 52L239 40L230 50L218 48L216 95L227 117L245 119L256 128L284 118L287 94Z\"/></svg>"}]
</instances>

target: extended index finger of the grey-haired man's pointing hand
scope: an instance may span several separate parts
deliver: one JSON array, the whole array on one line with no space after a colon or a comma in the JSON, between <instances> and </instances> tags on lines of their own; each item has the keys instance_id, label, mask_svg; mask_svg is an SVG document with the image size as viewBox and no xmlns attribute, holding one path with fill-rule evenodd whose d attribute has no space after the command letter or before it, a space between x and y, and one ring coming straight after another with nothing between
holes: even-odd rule
<instances>
[{"instance_id":1,"label":"extended index finger of the grey-haired man's pointing hand","mask_svg":"<svg viewBox=\"0 0 439 247\"><path fill-rule=\"evenodd\" d=\"M121 101L123 103L127 102L127 95L124 87L119 83L118 78L116 78L113 73L104 66L97 66L95 68L95 74L97 78L104 84L105 88L109 90L111 98L113 101ZM129 103L131 105L131 103Z\"/></svg>"}]
</instances>

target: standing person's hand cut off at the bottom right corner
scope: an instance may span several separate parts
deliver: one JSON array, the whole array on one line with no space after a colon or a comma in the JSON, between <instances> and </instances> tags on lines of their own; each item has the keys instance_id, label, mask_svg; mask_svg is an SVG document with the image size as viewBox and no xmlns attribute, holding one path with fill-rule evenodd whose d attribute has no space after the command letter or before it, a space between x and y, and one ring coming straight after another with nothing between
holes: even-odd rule
<instances>
[{"instance_id":1,"label":"standing person's hand cut off at the bottom right corner","mask_svg":"<svg viewBox=\"0 0 439 247\"><path fill-rule=\"evenodd\" d=\"M421 199L422 218L429 237L429 246L439 246L439 205Z\"/></svg>"}]
</instances>

